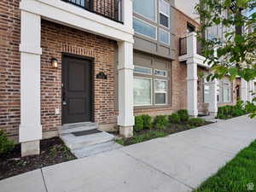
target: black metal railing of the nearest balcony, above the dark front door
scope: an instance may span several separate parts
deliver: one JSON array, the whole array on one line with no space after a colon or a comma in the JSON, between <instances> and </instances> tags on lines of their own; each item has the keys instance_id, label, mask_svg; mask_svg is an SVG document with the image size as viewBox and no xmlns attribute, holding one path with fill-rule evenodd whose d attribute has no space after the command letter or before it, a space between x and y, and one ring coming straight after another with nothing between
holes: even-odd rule
<instances>
[{"instance_id":1,"label":"black metal railing of the nearest balcony, above the dark front door","mask_svg":"<svg viewBox=\"0 0 256 192\"><path fill-rule=\"evenodd\" d=\"M123 23L123 0L62 0L79 6L97 15L102 15L109 20Z\"/></svg>"}]
</instances>

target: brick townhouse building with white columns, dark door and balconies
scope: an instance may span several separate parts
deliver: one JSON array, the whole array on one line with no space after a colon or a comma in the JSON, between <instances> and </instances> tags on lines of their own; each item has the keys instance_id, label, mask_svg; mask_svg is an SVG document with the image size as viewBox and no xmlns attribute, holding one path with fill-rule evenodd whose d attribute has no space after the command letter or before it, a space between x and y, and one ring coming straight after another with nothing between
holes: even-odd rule
<instances>
[{"instance_id":1,"label":"brick townhouse building with white columns, dark door and balconies","mask_svg":"<svg viewBox=\"0 0 256 192\"><path fill-rule=\"evenodd\" d=\"M208 73L193 52L200 25L174 0L148 1L151 12L143 1L97 2L0 2L0 127L24 155L37 154L39 141L58 136L62 125L118 125L131 137L134 115L217 113L216 82L209 106L197 77Z\"/></svg>"}]
</instances>

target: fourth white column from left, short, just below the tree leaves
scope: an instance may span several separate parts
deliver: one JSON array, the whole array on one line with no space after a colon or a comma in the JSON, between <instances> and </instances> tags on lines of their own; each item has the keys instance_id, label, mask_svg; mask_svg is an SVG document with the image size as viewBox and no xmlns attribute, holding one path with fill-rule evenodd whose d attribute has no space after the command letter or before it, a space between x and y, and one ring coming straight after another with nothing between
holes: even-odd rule
<instances>
[{"instance_id":1,"label":"fourth white column from left, short, just below the tree leaves","mask_svg":"<svg viewBox=\"0 0 256 192\"><path fill-rule=\"evenodd\" d=\"M217 101L217 89L218 89L218 80L214 79L209 82L210 87L210 102L209 102L209 113L212 116L217 116L218 113L218 101Z\"/></svg>"}]
</instances>

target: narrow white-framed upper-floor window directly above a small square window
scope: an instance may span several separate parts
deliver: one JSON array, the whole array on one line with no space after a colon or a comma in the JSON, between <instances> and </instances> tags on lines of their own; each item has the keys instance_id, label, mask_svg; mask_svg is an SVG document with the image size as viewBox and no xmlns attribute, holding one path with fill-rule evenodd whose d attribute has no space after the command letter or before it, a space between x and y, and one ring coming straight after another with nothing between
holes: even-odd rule
<instances>
[{"instance_id":1,"label":"narrow white-framed upper-floor window directly above a small square window","mask_svg":"<svg viewBox=\"0 0 256 192\"><path fill-rule=\"evenodd\" d=\"M161 26L170 26L170 4L165 0L159 0L159 22Z\"/></svg>"}]
</instances>

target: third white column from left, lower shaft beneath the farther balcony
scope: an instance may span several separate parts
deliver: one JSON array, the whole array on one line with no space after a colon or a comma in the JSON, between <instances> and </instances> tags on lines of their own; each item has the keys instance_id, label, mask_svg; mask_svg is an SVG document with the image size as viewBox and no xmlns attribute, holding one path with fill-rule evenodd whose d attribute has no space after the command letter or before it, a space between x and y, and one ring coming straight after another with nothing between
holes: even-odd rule
<instances>
[{"instance_id":1,"label":"third white column from left, lower shaft beneath the farther balcony","mask_svg":"<svg viewBox=\"0 0 256 192\"><path fill-rule=\"evenodd\" d=\"M198 115L197 108L197 63L194 59L187 61L187 105L189 115L196 117Z\"/></svg>"}]
</instances>

